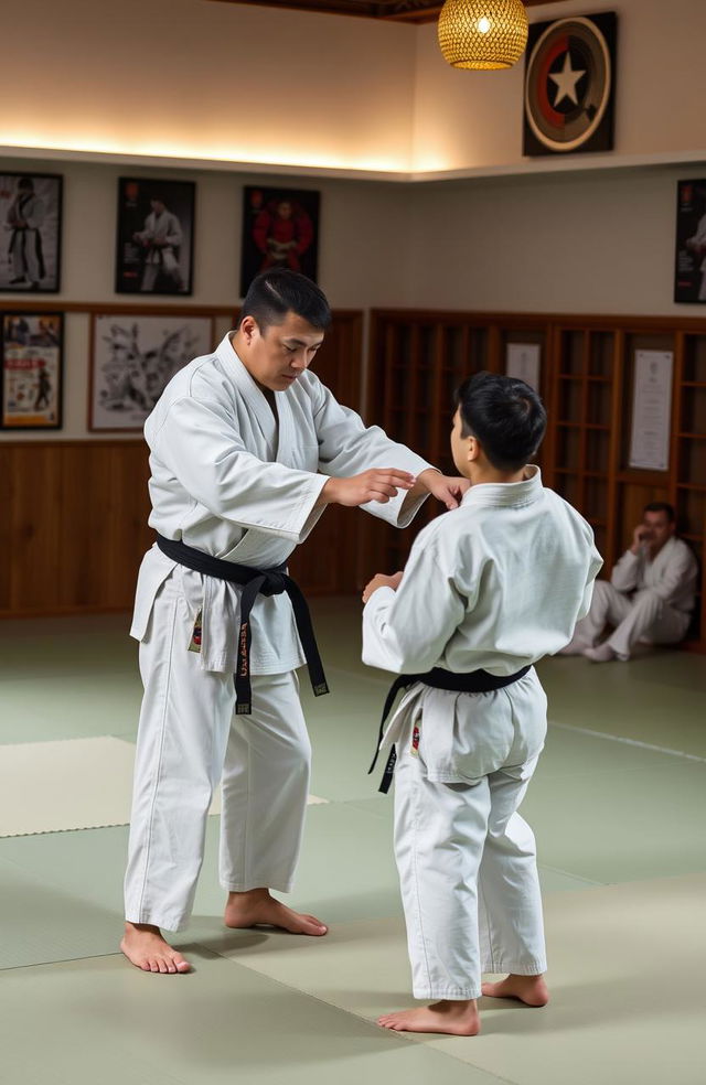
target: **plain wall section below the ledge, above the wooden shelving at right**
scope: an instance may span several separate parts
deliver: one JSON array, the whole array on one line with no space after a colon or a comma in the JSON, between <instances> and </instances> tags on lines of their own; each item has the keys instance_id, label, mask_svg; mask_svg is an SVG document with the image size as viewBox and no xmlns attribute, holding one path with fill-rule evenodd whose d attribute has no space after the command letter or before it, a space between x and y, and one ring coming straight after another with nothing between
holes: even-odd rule
<instances>
[{"instance_id":1,"label":"plain wall section below the ledge, above the wooden shelving at right","mask_svg":"<svg viewBox=\"0 0 706 1085\"><path fill-rule=\"evenodd\" d=\"M420 308L706 316L673 298L676 181L704 168L415 187Z\"/></svg>"}]
</instances>

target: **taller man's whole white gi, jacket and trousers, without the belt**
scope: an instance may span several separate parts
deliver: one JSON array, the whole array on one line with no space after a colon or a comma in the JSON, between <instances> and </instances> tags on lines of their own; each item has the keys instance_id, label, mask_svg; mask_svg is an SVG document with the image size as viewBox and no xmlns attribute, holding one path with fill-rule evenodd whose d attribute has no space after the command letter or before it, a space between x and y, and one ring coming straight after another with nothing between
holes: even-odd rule
<instances>
[{"instance_id":1,"label":"taller man's whole white gi, jacket and trousers, without the belt","mask_svg":"<svg viewBox=\"0 0 706 1085\"><path fill-rule=\"evenodd\" d=\"M272 568L323 513L314 506L328 475L430 466L377 427L365 428L312 373L275 393L275 401L278 420L228 336L172 378L145 427L150 525L160 535L225 561ZM400 492L363 507L404 527L422 501ZM291 888L310 765L295 674L304 659L289 598L258 597L253 712L234 718L240 594L237 584L178 565L157 546L140 568L130 631L140 641L145 684L126 874L132 923L185 925L221 778L224 889Z\"/></svg>"}]
</instances>

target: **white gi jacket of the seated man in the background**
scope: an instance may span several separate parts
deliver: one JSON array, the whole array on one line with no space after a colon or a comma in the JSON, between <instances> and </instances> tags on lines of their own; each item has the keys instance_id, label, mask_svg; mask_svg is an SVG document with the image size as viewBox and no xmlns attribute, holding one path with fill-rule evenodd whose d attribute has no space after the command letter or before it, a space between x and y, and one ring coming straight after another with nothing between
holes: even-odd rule
<instances>
[{"instance_id":1,"label":"white gi jacket of the seated man in the background","mask_svg":"<svg viewBox=\"0 0 706 1085\"><path fill-rule=\"evenodd\" d=\"M646 547L638 554L625 550L616 563L610 582L617 591L650 589L667 606L689 614L694 610L698 567L683 539L671 538L653 561Z\"/></svg>"}]
</instances>

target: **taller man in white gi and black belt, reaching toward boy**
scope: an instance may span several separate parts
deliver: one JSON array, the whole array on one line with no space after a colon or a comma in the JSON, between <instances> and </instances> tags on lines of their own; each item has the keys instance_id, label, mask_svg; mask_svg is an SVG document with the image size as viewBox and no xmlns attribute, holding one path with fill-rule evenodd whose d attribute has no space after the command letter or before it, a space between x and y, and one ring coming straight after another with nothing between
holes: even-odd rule
<instances>
[{"instance_id":1,"label":"taller man in white gi and black belt, reaching toward boy","mask_svg":"<svg viewBox=\"0 0 706 1085\"><path fill-rule=\"evenodd\" d=\"M270 895L291 889L306 813L304 657L327 692L286 561L329 504L405 527L429 493L453 507L467 486L366 428L309 370L330 320L309 279L258 276L237 330L171 379L145 427L158 540L131 627L145 696L121 942L145 970L189 970L161 928L189 921L220 780L226 925L325 934Z\"/></svg>"}]
</instances>

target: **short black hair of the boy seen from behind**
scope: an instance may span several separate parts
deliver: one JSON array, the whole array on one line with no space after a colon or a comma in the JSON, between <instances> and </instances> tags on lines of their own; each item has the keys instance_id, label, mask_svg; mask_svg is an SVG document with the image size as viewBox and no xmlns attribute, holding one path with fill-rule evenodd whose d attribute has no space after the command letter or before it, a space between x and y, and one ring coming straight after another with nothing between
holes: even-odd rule
<instances>
[{"instance_id":1,"label":"short black hair of the boy seen from behind","mask_svg":"<svg viewBox=\"0 0 706 1085\"><path fill-rule=\"evenodd\" d=\"M477 437L499 471L518 471L542 443L547 412L524 380L477 373L454 395L463 437Z\"/></svg>"}]
</instances>

